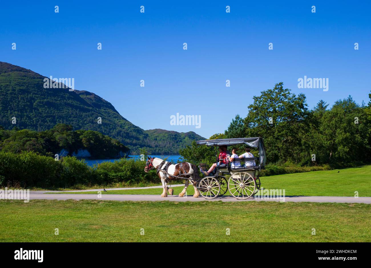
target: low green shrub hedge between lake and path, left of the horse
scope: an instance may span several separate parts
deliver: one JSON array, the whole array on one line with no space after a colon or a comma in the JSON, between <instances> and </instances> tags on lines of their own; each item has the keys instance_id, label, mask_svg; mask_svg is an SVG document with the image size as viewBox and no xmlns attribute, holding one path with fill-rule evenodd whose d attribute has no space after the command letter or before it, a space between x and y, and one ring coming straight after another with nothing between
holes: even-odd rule
<instances>
[{"instance_id":1,"label":"low green shrub hedge between lake and path, left of the horse","mask_svg":"<svg viewBox=\"0 0 371 268\"><path fill-rule=\"evenodd\" d=\"M89 166L85 160L66 156L55 161L33 152L0 152L0 185L68 187L76 185L141 184L160 182L155 171L144 172L144 161L120 159Z\"/></svg>"}]
</instances>

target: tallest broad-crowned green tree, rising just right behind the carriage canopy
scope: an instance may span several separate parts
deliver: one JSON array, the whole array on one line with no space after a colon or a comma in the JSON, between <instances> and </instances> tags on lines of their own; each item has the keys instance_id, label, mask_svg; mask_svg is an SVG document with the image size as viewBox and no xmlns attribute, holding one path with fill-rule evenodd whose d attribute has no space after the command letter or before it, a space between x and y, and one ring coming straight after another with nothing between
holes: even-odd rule
<instances>
[{"instance_id":1,"label":"tallest broad-crowned green tree, rising just right behind the carriage canopy","mask_svg":"<svg viewBox=\"0 0 371 268\"><path fill-rule=\"evenodd\" d=\"M253 97L244 119L247 137L263 137L271 162L308 163L311 113L304 94L296 96L278 83Z\"/></svg>"}]
</instances>

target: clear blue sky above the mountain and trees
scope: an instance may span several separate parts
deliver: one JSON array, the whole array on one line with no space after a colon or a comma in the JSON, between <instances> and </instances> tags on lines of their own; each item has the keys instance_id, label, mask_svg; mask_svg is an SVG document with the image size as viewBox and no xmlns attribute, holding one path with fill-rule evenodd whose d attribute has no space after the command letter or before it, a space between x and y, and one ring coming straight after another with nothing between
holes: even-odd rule
<instances>
[{"instance_id":1,"label":"clear blue sky above the mountain and trees","mask_svg":"<svg viewBox=\"0 0 371 268\"><path fill-rule=\"evenodd\" d=\"M368 1L32 2L2 1L0 61L73 77L75 89L103 97L143 129L209 138L278 82L305 93L311 108L349 94L369 100ZM328 78L329 90L298 89L304 76ZM201 128L170 125L176 113L201 115Z\"/></svg>"}]
</instances>

